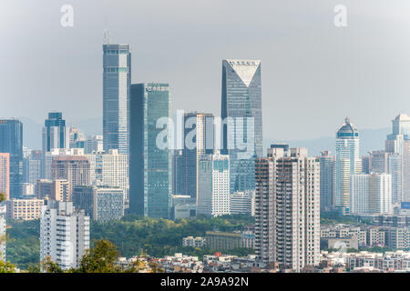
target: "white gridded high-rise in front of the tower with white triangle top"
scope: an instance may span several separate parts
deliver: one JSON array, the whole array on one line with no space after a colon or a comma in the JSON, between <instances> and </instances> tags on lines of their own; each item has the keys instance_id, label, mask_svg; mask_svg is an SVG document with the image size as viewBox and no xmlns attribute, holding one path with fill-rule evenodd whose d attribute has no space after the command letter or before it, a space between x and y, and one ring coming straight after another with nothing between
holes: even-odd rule
<instances>
[{"instance_id":1,"label":"white gridded high-rise in front of the tower with white triangle top","mask_svg":"<svg viewBox=\"0 0 410 291\"><path fill-rule=\"evenodd\" d=\"M198 160L198 214L231 214L230 156L202 155Z\"/></svg>"}]
</instances>

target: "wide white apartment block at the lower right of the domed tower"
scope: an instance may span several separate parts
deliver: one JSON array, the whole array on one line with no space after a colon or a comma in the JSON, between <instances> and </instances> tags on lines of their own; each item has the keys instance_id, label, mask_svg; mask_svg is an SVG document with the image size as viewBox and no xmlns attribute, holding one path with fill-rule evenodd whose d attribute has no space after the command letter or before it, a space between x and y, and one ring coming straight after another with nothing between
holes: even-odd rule
<instances>
[{"instance_id":1,"label":"wide white apartment block at the lower right of the domed tower","mask_svg":"<svg viewBox=\"0 0 410 291\"><path fill-rule=\"evenodd\" d=\"M352 175L350 196L350 209L354 215L392 214L392 176L378 173Z\"/></svg>"}]
</instances>

